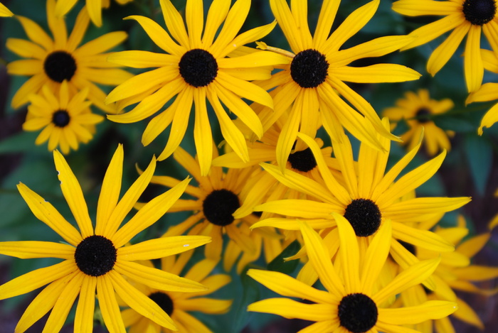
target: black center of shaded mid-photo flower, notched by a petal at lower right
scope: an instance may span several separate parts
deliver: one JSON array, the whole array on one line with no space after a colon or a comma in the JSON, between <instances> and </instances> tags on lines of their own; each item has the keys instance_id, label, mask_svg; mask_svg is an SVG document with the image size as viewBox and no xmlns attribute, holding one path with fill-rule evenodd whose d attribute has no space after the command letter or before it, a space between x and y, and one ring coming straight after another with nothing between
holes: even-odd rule
<instances>
[{"instance_id":1,"label":"black center of shaded mid-photo flower, notched by a petal at lower right","mask_svg":"<svg viewBox=\"0 0 498 333\"><path fill-rule=\"evenodd\" d=\"M217 226L231 224L234 221L233 213L238 207L240 207L240 201L237 195L225 189L209 193L202 203L204 216Z\"/></svg>"}]
</instances>

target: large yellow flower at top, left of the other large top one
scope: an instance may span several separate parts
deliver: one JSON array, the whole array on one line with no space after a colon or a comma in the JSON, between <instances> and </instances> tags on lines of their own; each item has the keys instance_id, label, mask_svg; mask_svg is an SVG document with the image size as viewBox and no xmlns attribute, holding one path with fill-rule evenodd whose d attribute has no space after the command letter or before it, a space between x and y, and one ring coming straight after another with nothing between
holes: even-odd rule
<instances>
[{"instance_id":1,"label":"large yellow flower at top, left of the other large top one","mask_svg":"<svg viewBox=\"0 0 498 333\"><path fill-rule=\"evenodd\" d=\"M120 123L140 121L155 114L176 96L171 106L149 121L142 136L142 143L147 146L171 125L168 142L158 158L163 160L175 151L184 137L194 104L194 141L201 173L207 175L213 155L211 141L206 139L212 137L207 98L226 142L243 160L248 160L243 133L233 124L222 104L258 138L263 136L260 119L242 98L273 108L270 94L249 81L270 77L270 66L287 60L275 53L245 52L245 48L241 51L240 47L263 38L276 23L253 28L237 36L248 15L250 0L235 1L231 8L230 1L214 0L208 11L206 26L203 24L203 1L188 0L185 28L183 18L171 1L161 0L160 4L172 38L150 18L129 18L136 20L166 54L137 50L116 53L109 58L129 67L157 67L132 77L110 92L107 102L122 101L118 103L121 107L139 104L132 111L109 116L109 119ZM217 34L221 23L223 26Z\"/></svg>"}]
</instances>

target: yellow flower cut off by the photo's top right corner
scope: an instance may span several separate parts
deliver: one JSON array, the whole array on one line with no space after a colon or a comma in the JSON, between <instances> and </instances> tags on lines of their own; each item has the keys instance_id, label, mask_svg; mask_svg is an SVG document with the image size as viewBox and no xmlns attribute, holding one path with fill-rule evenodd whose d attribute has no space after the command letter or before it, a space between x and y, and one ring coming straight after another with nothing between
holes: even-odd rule
<instances>
[{"instance_id":1,"label":"yellow flower cut off by the photo's top right corner","mask_svg":"<svg viewBox=\"0 0 498 333\"><path fill-rule=\"evenodd\" d=\"M415 48L452 31L446 40L435 48L427 62L427 71L435 75L465 40L464 72L467 90L475 92L484 76L480 53L481 32L495 52L498 52L498 16L495 0L399 0L393 10L406 16L434 15L443 18L415 29L408 36L415 37L402 50Z\"/></svg>"}]
</instances>

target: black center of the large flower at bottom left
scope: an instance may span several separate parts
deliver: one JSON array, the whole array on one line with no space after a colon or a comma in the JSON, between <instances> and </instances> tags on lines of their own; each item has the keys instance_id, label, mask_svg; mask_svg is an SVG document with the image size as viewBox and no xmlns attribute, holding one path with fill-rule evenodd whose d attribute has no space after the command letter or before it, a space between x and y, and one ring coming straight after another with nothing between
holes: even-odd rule
<instances>
[{"instance_id":1,"label":"black center of the large flower at bottom left","mask_svg":"<svg viewBox=\"0 0 498 333\"><path fill-rule=\"evenodd\" d=\"M100 276L112 270L117 250L104 236L88 236L76 247L75 261L80 271L90 276Z\"/></svg>"}]
</instances>

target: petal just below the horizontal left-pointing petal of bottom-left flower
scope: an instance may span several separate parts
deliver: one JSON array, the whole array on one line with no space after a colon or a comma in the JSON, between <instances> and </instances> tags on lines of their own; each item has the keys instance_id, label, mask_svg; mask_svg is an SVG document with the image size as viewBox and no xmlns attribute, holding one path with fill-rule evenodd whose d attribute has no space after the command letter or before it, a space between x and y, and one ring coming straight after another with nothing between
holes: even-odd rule
<instances>
[{"instance_id":1,"label":"petal just below the horizontal left-pointing petal of bottom-left flower","mask_svg":"<svg viewBox=\"0 0 498 333\"><path fill-rule=\"evenodd\" d=\"M38 268L0 285L0 299L5 300L6 298L29 293L77 270L78 267L73 259L65 260L62 263L56 263L46 268Z\"/></svg>"}]
</instances>

